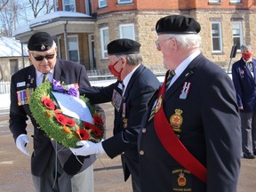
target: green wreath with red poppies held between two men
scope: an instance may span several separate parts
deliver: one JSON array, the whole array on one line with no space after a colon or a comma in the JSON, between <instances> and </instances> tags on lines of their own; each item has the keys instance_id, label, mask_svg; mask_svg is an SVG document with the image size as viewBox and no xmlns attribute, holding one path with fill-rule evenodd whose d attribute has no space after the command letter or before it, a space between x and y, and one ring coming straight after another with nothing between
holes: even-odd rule
<instances>
[{"instance_id":1,"label":"green wreath with red poppies held between two men","mask_svg":"<svg viewBox=\"0 0 256 192\"><path fill-rule=\"evenodd\" d=\"M80 96L92 114L93 124L63 115L57 100L52 95L52 84L50 82L41 84L32 92L29 100L30 111L39 128L44 130L50 139L58 141L65 147L77 148L76 142L79 140L100 142L104 135L102 116L93 108L88 98ZM66 90L68 92L67 88Z\"/></svg>"}]
</instances>

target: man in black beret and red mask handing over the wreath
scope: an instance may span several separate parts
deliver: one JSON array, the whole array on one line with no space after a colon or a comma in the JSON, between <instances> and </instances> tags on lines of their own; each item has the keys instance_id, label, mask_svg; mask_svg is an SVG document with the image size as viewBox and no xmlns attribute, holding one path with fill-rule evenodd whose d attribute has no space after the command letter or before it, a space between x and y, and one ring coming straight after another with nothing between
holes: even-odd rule
<instances>
[{"instance_id":1,"label":"man in black beret and red mask handing over the wreath","mask_svg":"<svg viewBox=\"0 0 256 192\"><path fill-rule=\"evenodd\" d=\"M88 156L106 153L110 158L121 155L124 180L132 175L132 189L140 192L139 154L137 147L140 123L148 100L159 87L156 76L142 64L140 44L131 39L116 39L108 44L110 72L115 84L107 87L80 89L92 103L111 101L115 107L114 136L100 143L79 141L82 148L72 148L74 154Z\"/></svg>"}]
</instances>

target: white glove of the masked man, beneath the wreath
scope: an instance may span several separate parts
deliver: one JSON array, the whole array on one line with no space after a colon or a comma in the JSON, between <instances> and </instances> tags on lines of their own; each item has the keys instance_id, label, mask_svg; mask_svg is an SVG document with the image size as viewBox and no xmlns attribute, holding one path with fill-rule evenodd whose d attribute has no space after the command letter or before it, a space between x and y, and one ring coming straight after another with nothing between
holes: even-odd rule
<instances>
[{"instance_id":1,"label":"white glove of the masked man, beneath the wreath","mask_svg":"<svg viewBox=\"0 0 256 192\"><path fill-rule=\"evenodd\" d=\"M89 156L92 154L103 154L105 153L101 142L93 143L88 140L80 140L76 143L77 146L82 146L81 148L70 148L75 156Z\"/></svg>"}]
</instances>

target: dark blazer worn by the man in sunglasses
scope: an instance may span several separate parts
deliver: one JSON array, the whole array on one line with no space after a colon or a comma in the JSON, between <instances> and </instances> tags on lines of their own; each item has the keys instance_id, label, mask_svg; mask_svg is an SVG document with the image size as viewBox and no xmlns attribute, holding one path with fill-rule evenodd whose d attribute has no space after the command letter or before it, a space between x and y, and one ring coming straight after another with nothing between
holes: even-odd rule
<instances>
[{"instance_id":1,"label":"dark blazer worn by the man in sunglasses","mask_svg":"<svg viewBox=\"0 0 256 192\"><path fill-rule=\"evenodd\" d=\"M78 64L74 61L67 60L57 60L57 63L54 67L53 78L57 81L64 82L64 84L74 84L78 83L79 86L91 86L88 76L83 65ZM33 81L31 80L33 79ZM28 104L23 106L18 106L18 99L16 92L26 89L26 85L17 86L17 83L26 82L29 84L29 88L36 89L36 68L31 65L27 68L22 68L20 71L15 73L12 76L11 81L11 107L10 107L10 130L13 134L14 140L20 134L27 134L27 121L28 116L31 119L31 122L34 126L34 135L33 135L33 147L34 152L31 157L31 170L32 174L36 176L42 175L44 172L50 156L53 151L53 146L56 146L56 143L45 136L44 131L38 129L36 120L31 115ZM53 145L52 145L53 144ZM57 148L60 149L63 147L57 144ZM60 164L63 166L63 170L70 175L74 175L77 172L83 171L86 167L90 166L96 159L95 156L78 156L81 162L84 163L83 167L80 162L77 161L76 156L66 148L61 150L58 153Z\"/></svg>"}]
</instances>

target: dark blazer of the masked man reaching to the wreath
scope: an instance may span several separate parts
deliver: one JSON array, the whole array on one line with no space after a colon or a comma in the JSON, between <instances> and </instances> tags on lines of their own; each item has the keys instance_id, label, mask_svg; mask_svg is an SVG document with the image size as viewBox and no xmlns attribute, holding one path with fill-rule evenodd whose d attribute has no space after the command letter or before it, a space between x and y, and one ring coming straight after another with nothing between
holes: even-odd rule
<instances>
[{"instance_id":1,"label":"dark blazer of the masked man reaching to the wreath","mask_svg":"<svg viewBox=\"0 0 256 192\"><path fill-rule=\"evenodd\" d=\"M112 101L114 90L121 94L118 87L120 82L110 84L107 87L92 87L80 89L92 103L103 103ZM125 103L125 118L128 119L127 127L124 128L123 108L115 109L114 136L104 140L102 146L107 155L114 158L122 153L124 169L124 180L127 180L130 173L139 175L139 155L137 151L137 140L140 132L140 123L145 111L148 108L148 100L151 98L160 83L156 76L142 64L137 68L127 84L124 92L123 103Z\"/></svg>"}]
</instances>

